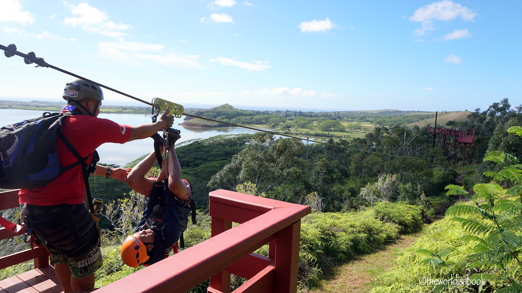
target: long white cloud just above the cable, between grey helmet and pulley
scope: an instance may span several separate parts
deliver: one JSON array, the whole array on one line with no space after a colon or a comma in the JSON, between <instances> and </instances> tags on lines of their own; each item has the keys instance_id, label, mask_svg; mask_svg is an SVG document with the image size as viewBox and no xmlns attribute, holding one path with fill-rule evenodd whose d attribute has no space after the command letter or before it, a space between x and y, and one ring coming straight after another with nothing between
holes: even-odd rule
<instances>
[{"instance_id":1,"label":"long white cloud just above the cable, between grey helmet and pulley","mask_svg":"<svg viewBox=\"0 0 522 293\"><path fill-rule=\"evenodd\" d=\"M147 44L138 42L102 42L98 49L104 56L134 64L133 60L145 60L169 67L202 68L199 63L199 55L162 54L164 45Z\"/></svg>"}]
</instances>

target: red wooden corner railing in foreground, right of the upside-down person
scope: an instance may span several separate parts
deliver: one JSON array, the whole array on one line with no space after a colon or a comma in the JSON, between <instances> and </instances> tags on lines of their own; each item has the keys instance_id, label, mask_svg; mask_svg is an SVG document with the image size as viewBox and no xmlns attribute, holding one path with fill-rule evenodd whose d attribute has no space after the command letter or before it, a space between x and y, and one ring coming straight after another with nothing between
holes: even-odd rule
<instances>
[{"instance_id":1,"label":"red wooden corner railing in foreground, right of the upside-down person","mask_svg":"<svg viewBox=\"0 0 522 293\"><path fill-rule=\"evenodd\" d=\"M186 292L210 278L208 293L230 293L230 275L234 274L248 279L234 293L295 293L301 218L310 212L310 206L212 191L209 240L96 292ZM232 228L232 222L240 225ZM253 253L267 243L268 257Z\"/></svg>"}]
</instances>

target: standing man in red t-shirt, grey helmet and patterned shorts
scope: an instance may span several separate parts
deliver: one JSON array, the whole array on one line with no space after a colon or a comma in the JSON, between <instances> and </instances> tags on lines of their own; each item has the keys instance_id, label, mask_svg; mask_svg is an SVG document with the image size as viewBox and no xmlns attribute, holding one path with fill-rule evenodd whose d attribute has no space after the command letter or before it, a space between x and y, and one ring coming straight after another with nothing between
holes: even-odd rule
<instances>
[{"instance_id":1,"label":"standing man in red t-shirt, grey helmet and patterned shorts","mask_svg":"<svg viewBox=\"0 0 522 293\"><path fill-rule=\"evenodd\" d=\"M125 181L127 170L111 169L96 164L96 148L105 142L124 143L152 136L169 128L174 117L165 112L157 123L131 127L98 118L103 92L99 86L81 79L66 83L63 112L72 112L60 126L64 137L86 163L91 174L110 176ZM61 166L78 161L60 138L56 151ZM94 160L93 160L94 157ZM92 172L92 166L96 169ZM50 184L34 189L21 189L19 201L25 212L25 223L31 233L50 252L55 272L64 292L94 289L94 272L102 265L100 235L85 202L87 192L82 164L68 169Z\"/></svg>"}]
</instances>

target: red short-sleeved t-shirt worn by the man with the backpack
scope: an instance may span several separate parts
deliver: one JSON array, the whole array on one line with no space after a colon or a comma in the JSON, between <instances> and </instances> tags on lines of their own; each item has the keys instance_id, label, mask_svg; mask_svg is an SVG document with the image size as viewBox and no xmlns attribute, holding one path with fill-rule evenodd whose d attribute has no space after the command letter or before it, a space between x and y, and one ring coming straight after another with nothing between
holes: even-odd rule
<instances>
[{"instance_id":1,"label":"red short-sleeved t-shirt worn by the man with the backpack","mask_svg":"<svg viewBox=\"0 0 522 293\"><path fill-rule=\"evenodd\" d=\"M124 143L131 137L132 127L117 124L108 119L89 115L65 117L60 130L76 151L86 157L105 142ZM56 137L56 152L60 165L74 164L77 159L67 150L62 140ZM92 155L87 163L92 161ZM33 189L20 189L20 203L32 205L80 204L86 198L81 164L67 170L50 184Z\"/></svg>"}]
</instances>

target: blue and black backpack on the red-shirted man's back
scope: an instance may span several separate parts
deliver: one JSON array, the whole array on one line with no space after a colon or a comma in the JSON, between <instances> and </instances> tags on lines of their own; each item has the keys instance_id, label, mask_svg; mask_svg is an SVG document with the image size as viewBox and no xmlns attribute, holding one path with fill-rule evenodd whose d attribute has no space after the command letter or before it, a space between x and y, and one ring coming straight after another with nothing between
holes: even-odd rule
<instances>
[{"instance_id":1,"label":"blue and black backpack on the red-shirted man's back","mask_svg":"<svg viewBox=\"0 0 522 293\"><path fill-rule=\"evenodd\" d=\"M0 129L0 188L38 188L58 175L77 166L82 158L60 131L62 119L73 115L43 113ZM61 167L55 150L56 136L78 158L78 162Z\"/></svg>"}]
</instances>

